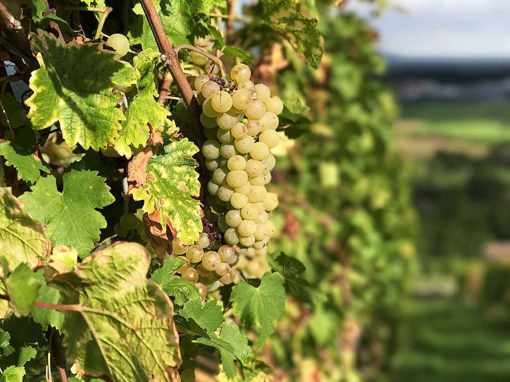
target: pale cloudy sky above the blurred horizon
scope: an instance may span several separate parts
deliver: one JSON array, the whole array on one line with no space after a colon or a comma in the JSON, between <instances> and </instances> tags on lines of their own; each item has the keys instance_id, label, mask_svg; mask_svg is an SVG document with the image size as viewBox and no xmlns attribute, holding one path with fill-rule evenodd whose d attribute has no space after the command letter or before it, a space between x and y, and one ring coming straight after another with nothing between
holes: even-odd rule
<instances>
[{"instance_id":1,"label":"pale cloudy sky above the blurred horizon","mask_svg":"<svg viewBox=\"0 0 510 382\"><path fill-rule=\"evenodd\" d=\"M510 58L510 0L390 0L372 24L382 53L409 57ZM369 7L348 3L364 17Z\"/></svg>"}]
</instances>

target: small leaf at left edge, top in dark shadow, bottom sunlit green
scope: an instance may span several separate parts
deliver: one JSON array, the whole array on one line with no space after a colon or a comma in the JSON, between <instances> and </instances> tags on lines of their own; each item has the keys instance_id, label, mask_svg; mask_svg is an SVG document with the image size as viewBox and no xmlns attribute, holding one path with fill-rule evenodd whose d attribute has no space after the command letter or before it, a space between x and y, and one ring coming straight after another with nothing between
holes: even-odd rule
<instances>
[{"instance_id":1,"label":"small leaf at left edge, top in dark shadow, bottom sunlit green","mask_svg":"<svg viewBox=\"0 0 510 382\"><path fill-rule=\"evenodd\" d=\"M49 173L49 166L35 156L36 147L34 131L29 127L17 129L12 141L0 143L0 155L6 159L7 166L16 168L18 180L36 183L40 171Z\"/></svg>"}]
</instances>

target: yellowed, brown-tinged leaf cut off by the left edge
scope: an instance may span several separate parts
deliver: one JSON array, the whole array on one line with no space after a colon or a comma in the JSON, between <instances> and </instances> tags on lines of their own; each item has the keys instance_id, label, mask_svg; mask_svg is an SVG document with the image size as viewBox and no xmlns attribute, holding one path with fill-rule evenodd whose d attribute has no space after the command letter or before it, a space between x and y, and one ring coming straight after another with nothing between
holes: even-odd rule
<instances>
[{"instance_id":1,"label":"yellowed, brown-tinged leaf cut off by the left edge","mask_svg":"<svg viewBox=\"0 0 510 382\"><path fill-rule=\"evenodd\" d=\"M35 268L50 250L46 226L21 207L10 188L0 188L0 253L11 269L21 263Z\"/></svg>"}]
</instances>

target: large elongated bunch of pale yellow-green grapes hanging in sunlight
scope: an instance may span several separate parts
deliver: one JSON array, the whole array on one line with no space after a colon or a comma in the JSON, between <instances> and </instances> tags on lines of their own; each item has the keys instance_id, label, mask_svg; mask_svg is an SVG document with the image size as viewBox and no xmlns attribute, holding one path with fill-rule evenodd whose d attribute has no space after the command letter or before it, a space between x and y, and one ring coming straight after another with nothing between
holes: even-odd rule
<instances>
[{"instance_id":1,"label":"large elongated bunch of pale yellow-green grapes hanging in sunlight","mask_svg":"<svg viewBox=\"0 0 510 382\"><path fill-rule=\"evenodd\" d=\"M254 85L250 75L247 65L237 64L230 79L199 75L194 87L208 138L201 150L212 172L208 205L220 214L225 243L262 249L274 233L269 218L278 199L265 186L275 165L270 149L279 142L283 103L266 85Z\"/></svg>"}]
</instances>

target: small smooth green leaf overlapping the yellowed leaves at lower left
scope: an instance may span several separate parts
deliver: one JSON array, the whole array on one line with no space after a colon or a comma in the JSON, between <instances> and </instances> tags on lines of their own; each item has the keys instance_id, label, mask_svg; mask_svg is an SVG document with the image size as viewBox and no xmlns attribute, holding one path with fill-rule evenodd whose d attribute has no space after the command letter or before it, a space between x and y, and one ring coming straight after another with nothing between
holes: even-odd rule
<instances>
[{"instance_id":1,"label":"small smooth green leaf overlapping the yellowed leaves at lower left","mask_svg":"<svg viewBox=\"0 0 510 382\"><path fill-rule=\"evenodd\" d=\"M3 282L7 288L10 303L14 307L14 314L17 317L30 315L41 287L32 269L27 264L21 263L3 279Z\"/></svg>"}]
</instances>

